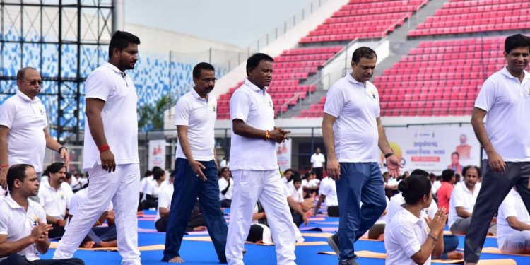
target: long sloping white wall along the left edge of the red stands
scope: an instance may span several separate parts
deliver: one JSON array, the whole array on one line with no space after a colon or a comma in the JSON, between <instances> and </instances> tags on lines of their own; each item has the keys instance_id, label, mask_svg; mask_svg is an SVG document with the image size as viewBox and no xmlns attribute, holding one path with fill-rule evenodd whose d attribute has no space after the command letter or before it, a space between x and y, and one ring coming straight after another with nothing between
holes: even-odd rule
<instances>
[{"instance_id":1,"label":"long sloping white wall along the left edge of the red stands","mask_svg":"<svg viewBox=\"0 0 530 265\"><path fill-rule=\"evenodd\" d=\"M288 30L283 36L278 37L277 40L270 45L260 49L259 52L264 52L276 57L285 49L291 49L298 45L302 37L305 37L311 30L317 28L318 25L324 23L326 18L331 17L335 11L338 11L341 6L348 4L348 0L329 0L322 4L317 11L314 11L310 16L302 20L298 25ZM228 90L243 81L247 77L245 64L247 59L242 59L242 64L235 67L230 73L220 78L216 83L216 89L211 92L211 95L219 98L219 95L227 93Z\"/></svg>"}]
</instances>

